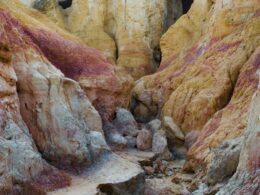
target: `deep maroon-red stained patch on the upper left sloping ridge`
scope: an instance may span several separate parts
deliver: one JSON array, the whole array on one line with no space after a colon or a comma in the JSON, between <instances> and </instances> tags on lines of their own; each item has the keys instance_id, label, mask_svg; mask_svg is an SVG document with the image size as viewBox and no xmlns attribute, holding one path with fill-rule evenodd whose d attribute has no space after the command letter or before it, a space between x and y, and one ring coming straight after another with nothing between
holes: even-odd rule
<instances>
[{"instance_id":1,"label":"deep maroon-red stained patch on the upper left sloping ridge","mask_svg":"<svg viewBox=\"0 0 260 195\"><path fill-rule=\"evenodd\" d=\"M75 80L84 76L114 76L113 66L99 51L67 40L54 32L24 29L45 57L65 76Z\"/></svg>"}]
</instances>

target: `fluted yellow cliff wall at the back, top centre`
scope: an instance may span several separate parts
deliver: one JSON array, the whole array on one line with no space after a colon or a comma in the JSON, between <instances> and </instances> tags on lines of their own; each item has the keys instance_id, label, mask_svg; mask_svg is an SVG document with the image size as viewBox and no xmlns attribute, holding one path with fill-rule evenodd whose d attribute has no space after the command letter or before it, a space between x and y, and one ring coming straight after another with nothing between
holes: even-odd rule
<instances>
[{"instance_id":1,"label":"fluted yellow cliff wall at the back, top centre","mask_svg":"<svg viewBox=\"0 0 260 195\"><path fill-rule=\"evenodd\" d=\"M160 37L182 14L180 0L23 1L88 46L101 50L135 79L156 69Z\"/></svg>"}]
</instances>

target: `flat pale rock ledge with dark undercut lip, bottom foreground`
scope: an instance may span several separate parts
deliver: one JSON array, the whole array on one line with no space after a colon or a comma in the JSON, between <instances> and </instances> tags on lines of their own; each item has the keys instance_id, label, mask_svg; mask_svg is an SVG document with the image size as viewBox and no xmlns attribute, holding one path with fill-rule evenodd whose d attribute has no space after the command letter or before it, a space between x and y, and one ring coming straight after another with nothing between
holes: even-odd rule
<instances>
[{"instance_id":1,"label":"flat pale rock ledge with dark undercut lip, bottom foreground","mask_svg":"<svg viewBox=\"0 0 260 195\"><path fill-rule=\"evenodd\" d=\"M143 194L144 185L144 172L139 165L118 155L108 155L79 176L72 176L70 187L50 195L95 195L98 192L139 195Z\"/></svg>"}]
</instances>

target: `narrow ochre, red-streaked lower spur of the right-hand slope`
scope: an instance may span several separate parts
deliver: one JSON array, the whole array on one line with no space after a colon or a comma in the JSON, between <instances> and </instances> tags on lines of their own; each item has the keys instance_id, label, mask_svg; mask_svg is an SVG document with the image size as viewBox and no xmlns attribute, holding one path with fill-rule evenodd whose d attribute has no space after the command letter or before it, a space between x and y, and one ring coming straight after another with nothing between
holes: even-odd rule
<instances>
[{"instance_id":1,"label":"narrow ochre, red-streaked lower spur of the right-hand slope","mask_svg":"<svg viewBox=\"0 0 260 195\"><path fill-rule=\"evenodd\" d=\"M212 154L210 148L217 147L225 140L243 136L250 102L259 82L259 52L260 49L256 49L241 69L229 104L212 117L190 148L188 158L191 167L194 162L209 162Z\"/></svg>"}]
</instances>

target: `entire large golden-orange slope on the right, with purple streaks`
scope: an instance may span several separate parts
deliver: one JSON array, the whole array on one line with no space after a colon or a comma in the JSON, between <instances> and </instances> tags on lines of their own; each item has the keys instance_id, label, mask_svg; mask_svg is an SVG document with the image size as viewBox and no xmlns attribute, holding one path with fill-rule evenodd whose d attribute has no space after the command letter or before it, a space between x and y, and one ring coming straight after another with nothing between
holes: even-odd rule
<instances>
[{"instance_id":1,"label":"entire large golden-orange slope on the right, with purple streaks","mask_svg":"<svg viewBox=\"0 0 260 195\"><path fill-rule=\"evenodd\" d=\"M162 37L159 70L137 81L140 121L171 117L184 134L200 131L189 166L208 164L213 148L244 134L259 76L257 1L195 0Z\"/></svg>"}]
</instances>

